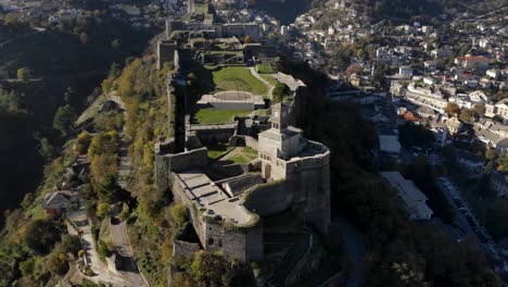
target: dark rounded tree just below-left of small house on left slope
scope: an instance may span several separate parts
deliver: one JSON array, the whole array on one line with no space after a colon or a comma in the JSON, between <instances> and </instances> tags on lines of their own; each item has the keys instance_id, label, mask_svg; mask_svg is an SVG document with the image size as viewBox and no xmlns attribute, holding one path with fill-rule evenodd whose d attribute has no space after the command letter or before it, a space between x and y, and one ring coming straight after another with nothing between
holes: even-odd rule
<instances>
[{"instance_id":1,"label":"dark rounded tree just below-left of small house on left slope","mask_svg":"<svg viewBox=\"0 0 508 287\"><path fill-rule=\"evenodd\" d=\"M60 230L50 219L35 220L26 228L24 239L36 253L45 254L60 239Z\"/></svg>"}]
</instances>

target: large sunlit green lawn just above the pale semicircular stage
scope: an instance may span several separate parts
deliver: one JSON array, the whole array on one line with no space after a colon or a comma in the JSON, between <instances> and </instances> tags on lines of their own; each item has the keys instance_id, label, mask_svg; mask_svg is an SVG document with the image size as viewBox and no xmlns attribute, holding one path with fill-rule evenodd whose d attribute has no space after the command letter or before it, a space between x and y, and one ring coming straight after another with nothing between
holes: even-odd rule
<instances>
[{"instance_id":1,"label":"large sunlit green lawn just above the pale semicircular stage","mask_svg":"<svg viewBox=\"0 0 508 287\"><path fill-rule=\"evenodd\" d=\"M243 66L228 66L213 72L216 91L242 90L254 95L266 95L268 88Z\"/></svg>"}]
</instances>

